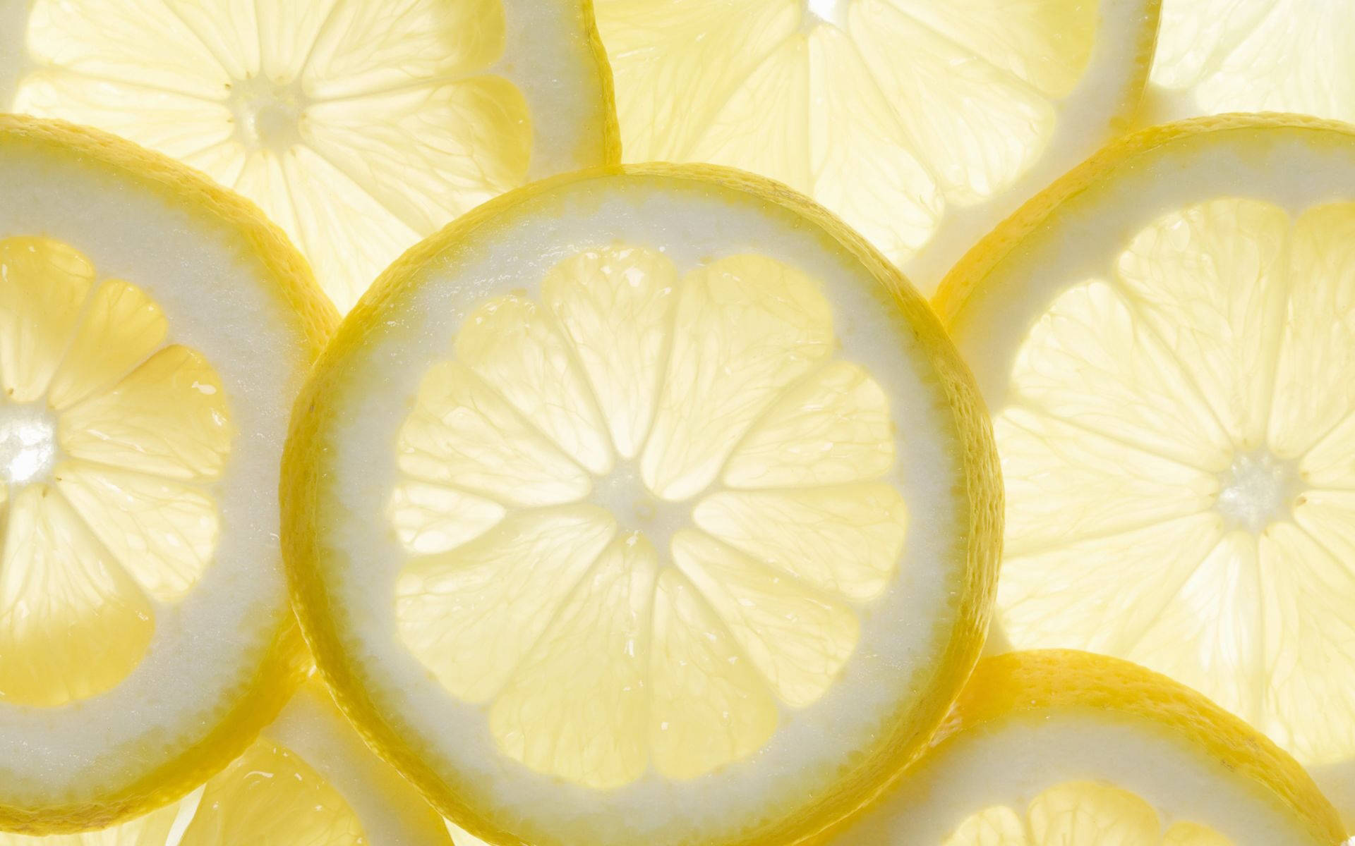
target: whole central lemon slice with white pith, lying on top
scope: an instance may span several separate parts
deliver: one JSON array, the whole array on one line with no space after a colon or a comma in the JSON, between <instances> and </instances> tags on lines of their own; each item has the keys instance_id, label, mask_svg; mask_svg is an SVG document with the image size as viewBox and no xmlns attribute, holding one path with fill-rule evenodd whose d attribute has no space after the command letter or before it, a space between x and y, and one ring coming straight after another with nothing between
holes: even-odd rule
<instances>
[{"instance_id":1,"label":"whole central lemon slice with white pith, lying on top","mask_svg":"<svg viewBox=\"0 0 1355 846\"><path fill-rule=\"evenodd\" d=\"M943 716L1000 491L927 305L772 183L507 195L298 401L285 546L346 711L489 842L790 843Z\"/></svg>"}]
</instances>

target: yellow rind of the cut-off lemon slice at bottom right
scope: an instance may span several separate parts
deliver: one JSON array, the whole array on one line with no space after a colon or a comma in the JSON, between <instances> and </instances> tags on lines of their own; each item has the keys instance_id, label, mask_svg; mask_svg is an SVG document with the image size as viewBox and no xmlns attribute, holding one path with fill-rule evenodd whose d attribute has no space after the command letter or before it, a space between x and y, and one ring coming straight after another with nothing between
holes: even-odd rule
<instances>
[{"instance_id":1,"label":"yellow rind of the cut-off lemon slice at bottom right","mask_svg":"<svg viewBox=\"0 0 1355 846\"><path fill-rule=\"evenodd\" d=\"M967 732L997 731L1020 719L1092 712L1133 721L1203 750L1256 801L1302 822L1318 843L1336 846L1346 830L1304 767L1268 738L1202 694L1127 661L1077 650L1034 650L986 658L932 738L940 750Z\"/></svg>"}]
</instances>

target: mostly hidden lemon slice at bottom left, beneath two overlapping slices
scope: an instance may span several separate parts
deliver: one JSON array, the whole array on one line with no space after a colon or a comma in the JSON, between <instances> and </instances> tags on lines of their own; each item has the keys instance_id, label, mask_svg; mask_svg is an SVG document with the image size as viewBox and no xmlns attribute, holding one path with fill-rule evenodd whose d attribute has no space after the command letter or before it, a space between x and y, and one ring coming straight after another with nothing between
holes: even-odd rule
<instances>
[{"instance_id":1,"label":"mostly hidden lemon slice at bottom left, beneath two overlapping slices","mask_svg":"<svg viewBox=\"0 0 1355 846\"><path fill-rule=\"evenodd\" d=\"M310 682L205 785L84 834L0 834L0 846L451 846L442 818Z\"/></svg>"}]
</instances>

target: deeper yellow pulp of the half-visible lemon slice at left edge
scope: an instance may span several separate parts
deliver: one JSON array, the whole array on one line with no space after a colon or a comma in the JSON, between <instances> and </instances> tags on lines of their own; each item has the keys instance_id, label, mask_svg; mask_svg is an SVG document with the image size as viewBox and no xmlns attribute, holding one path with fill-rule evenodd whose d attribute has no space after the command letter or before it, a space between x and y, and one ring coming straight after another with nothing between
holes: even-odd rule
<instances>
[{"instance_id":1,"label":"deeper yellow pulp of the half-visible lemon slice at left edge","mask_svg":"<svg viewBox=\"0 0 1355 846\"><path fill-rule=\"evenodd\" d=\"M0 700L57 707L141 662L210 564L232 428L160 309L51 238L0 241Z\"/></svg>"}]
</instances>

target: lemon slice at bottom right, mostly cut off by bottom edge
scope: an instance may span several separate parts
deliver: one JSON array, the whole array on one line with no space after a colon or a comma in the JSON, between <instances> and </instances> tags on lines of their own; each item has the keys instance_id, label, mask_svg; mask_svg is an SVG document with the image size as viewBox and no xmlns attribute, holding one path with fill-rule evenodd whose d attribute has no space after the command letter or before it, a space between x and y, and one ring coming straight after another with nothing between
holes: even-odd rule
<instances>
[{"instance_id":1,"label":"lemon slice at bottom right, mostly cut off by bottom edge","mask_svg":"<svg viewBox=\"0 0 1355 846\"><path fill-rule=\"evenodd\" d=\"M931 750L844 835L908 846L1339 846L1274 743L1171 680L1073 651L986 658Z\"/></svg>"}]
</instances>

